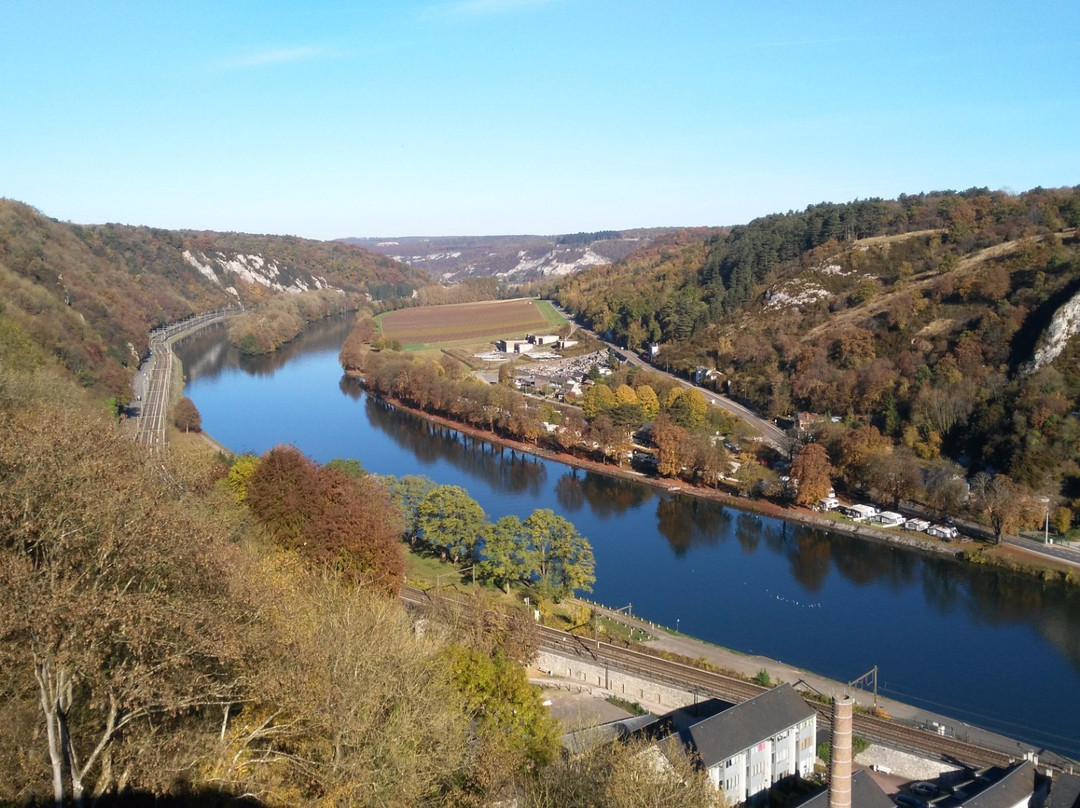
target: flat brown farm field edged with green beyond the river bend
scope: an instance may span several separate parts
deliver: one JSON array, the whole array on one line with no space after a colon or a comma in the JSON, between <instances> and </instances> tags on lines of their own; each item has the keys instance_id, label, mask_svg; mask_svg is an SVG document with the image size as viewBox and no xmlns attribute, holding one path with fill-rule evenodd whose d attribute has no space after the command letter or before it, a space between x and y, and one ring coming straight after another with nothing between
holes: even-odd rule
<instances>
[{"instance_id":1,"label":"flat brown farm field edged with green beyond the river bend","mask_svg":"<svg viewBox=\"0 0 1080 808\"><path fill-rule=\"evenodd\" d=\"M549 334L565 322L546 300L530 298L399 309L378 320L382 334L408 350Z\"/></svg>"}]
</instances>

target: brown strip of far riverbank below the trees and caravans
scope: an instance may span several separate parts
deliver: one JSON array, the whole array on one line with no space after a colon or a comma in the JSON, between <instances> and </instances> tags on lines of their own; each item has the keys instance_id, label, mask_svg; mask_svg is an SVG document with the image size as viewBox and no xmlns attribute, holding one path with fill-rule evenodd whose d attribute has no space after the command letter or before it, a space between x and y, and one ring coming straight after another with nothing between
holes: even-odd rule
<instances>
[{"instance_id":1,"label":"brown strip of far riverbank below the trees and caravans","mask_svg":"<svg viewBox=\"0 0 1080 808\"><path fill-rule=\"evenodd\" d=\"M360 378L361 374L346 373L347 376ZM368 393L372 394L372 393ZM516 441L504 435L478 429L476 427L455 421L450 418L433 415L409 406L392 396L379 396L403 412L411 413L426 421L453 429L488 443L509 448L513 452L532 455L553 462L563 463L576 469L595 472L606 476L629 480L665 490L676 495L685 495L708 499L724 506L747 513L755 513L770 519L783 520L799 525L816 527L822 530L843 534L853 538L879 544L889 544L908 550L917 550L939 556L956 558L962 563L977 563L994 566L1020 575L1040 578L1041 580L1059 579L1070 585L1080 585L1080 553L1075 561L1051 558L1036 550L1004 544L985 544L971 539L962 542L950 542L934 539L924 534L874 528L847 520L840 521L805 508L783 506L765 499L739 497L715 488L696 486L683 481L656 477L633 469L597 462L588 458L569 455L563 452L544 448L534 444Z\"/></svg>"}]
</instances>

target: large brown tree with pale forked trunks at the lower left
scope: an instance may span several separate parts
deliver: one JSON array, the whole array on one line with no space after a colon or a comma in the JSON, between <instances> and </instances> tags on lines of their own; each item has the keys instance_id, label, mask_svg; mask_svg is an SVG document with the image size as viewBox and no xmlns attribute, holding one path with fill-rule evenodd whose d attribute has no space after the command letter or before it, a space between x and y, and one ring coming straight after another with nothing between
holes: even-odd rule
<instances>
[{"instance_id":1,"label":"large brown tree with pale forked trunks at the lower left","mask_svg":"<svg viewBox=\"0 0 1080 808\"><path fill-rule=\"evenodd\" d=\"M32 673L54 804L191 766L154 736L241 697L235 547L92 416L0 413L0 666Z\"/></svg>"}]
</instances>

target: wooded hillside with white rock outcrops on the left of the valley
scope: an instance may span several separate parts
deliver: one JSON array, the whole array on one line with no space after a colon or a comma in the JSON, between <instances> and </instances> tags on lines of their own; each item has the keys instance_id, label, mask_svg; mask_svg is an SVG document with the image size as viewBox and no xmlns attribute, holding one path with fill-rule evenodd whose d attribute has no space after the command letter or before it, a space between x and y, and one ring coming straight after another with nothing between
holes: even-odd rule
<instances>
[{"instance_id":1,"label":"wooded hillside with white rock outcrops on the left of the valley","mask_svg":"<svg viewBox=\"0 0 1080 808\"><path fill-rule=\"evenodd\" d=\"M83 385L121 403L130 368L146 352L150 328L162 323L265 302L274 285L329 286L345 291L353 308L379 308L428 283L407 267L336 242L71 225L0 200L3 314Z\"/></svg>"}]
</instances>

